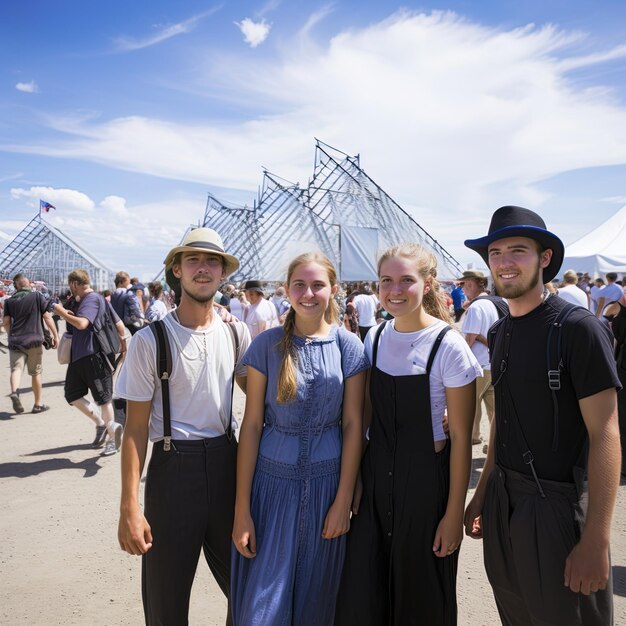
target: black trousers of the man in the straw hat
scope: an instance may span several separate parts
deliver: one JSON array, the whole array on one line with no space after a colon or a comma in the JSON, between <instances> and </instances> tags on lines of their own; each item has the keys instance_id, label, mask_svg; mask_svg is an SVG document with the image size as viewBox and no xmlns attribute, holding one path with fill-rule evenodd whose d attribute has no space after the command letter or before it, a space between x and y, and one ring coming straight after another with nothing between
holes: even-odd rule
<instances>
[{"instance_id":1,"label":"black trousers of the man in the straw hat","mask_svg":"<svg viewBox=\"0 0 626 626\"><path fill-rule=\"evenodd\" d=\"M154 444L146 477L145 515L153 545L143 556L146 624L188 623L200 550L230 600L231 534L237 443L226 435ZM226 624L231 624L230 603Z\"/></svg>"}]
</instances>

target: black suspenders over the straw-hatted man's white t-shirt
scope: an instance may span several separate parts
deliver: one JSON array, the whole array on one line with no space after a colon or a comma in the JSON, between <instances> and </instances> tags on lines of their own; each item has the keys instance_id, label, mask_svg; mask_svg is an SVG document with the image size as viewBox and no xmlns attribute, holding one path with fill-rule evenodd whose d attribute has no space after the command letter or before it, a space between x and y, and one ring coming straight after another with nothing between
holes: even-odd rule
<instances>
[{"instance_id":1,"label":"black suspenders over the straw-hatted man's white t-shirt","mask_svg":"<svg viewBox=\"0 0 626 626\"><path fill-rule=\"evenodd\" d=\"M239 361L239 336L234 324L226 324L233 341L233 375L230 386L230 410L228 412L228 426L226 436L229 440L233 438L233 396L235 393L235 369ZM161 398L163 401L163 450L169 452L172 445L172 422L170 414L170 376L172 374L172 352L170 342L167 338L167 331L163 320L157 320L150 324L150 330L156 340L156 366L157 376L161 381Z\"/></svg>"}]
</instances>

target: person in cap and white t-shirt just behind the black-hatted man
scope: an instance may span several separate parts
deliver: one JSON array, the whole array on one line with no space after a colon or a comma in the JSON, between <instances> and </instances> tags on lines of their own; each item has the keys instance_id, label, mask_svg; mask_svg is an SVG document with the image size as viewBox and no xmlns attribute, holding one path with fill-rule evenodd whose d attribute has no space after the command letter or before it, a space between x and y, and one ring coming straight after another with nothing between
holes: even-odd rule
<instances>
[{"instance_id":1,"label":"person in cap and white t-shirt just behind the black-hatted man","mask_svg":"<svg viewBox=\"0 0 626 626\"><path fill-rule=\"evenodd\" d=\"M476 412L472 427L472 444L477 445L482 442L480 420L483 403L489 423L491 424L493 420L494 401L487 335L489 329L498 321L499 316L496 305L485 297L488 295L486 292L487 277L482 272L467 270L463 272L463 276L458 279L458 282L462 285L469 304L471 304L466 308L461 318L461 332L476 360L483 368L483 375L476 377ZM483 451L486 452L486 446Z\"/></svg>"}]
</instances>

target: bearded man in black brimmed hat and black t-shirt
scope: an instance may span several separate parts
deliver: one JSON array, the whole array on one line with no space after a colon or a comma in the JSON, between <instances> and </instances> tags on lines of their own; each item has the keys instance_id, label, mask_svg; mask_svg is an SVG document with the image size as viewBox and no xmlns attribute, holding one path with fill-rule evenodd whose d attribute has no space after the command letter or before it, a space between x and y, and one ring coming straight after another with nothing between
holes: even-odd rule
<instances>
[{"instance_id":1,"label":"bearded man in black brimmed hat and black t-shirt","mask_svg":"<svg viewBox=\"0 0 626 626\"><path fill-rule=\"evenodd\" d=\"M620 383L608 331L582 308L564 317L571 305L546 297L564 247L533 211L502 207L488 235L465 245L488 263L510 311L489 333L496 415L466 534L484 539L503 624L610 624ZM550 372L551 388L555 323L563 367Z\"/></svg>"}]
</instances>

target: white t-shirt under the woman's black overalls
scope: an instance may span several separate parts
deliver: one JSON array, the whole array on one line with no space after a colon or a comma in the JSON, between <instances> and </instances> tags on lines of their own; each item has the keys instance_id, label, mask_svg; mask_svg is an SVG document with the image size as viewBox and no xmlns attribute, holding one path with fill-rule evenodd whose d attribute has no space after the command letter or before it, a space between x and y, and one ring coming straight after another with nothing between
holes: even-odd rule
<instances>
[{"instance_id":1,"label":"white t-shirt under the woman's black overalls","mask_svg":"<svg viewBox=\"0 0 626 626\"><path fill-rule=\"evenodd\" d=\"M446 324L437 321L422 330L400 333L395 320L386 324L378 342L376 367L391 376L426 373L430 351L437 335ZM365 354L372 362L372 346L378 327L370 329L365 337ZM463 387L482 376L483 372L467 342L455 330L444 337L430 370L430 411L433 439L446 439L443 432L443 414L446 409L446 387Z\"/></svg>"}]
</instances>

